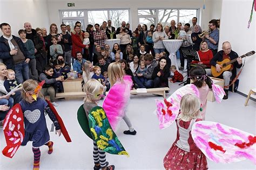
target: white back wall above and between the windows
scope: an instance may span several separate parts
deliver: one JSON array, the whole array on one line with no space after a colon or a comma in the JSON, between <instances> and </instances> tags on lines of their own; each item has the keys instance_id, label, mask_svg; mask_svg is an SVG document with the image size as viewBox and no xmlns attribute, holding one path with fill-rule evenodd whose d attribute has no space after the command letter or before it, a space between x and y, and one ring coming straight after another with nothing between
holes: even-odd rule
<instances>
[{"instance_id":1,"label":"white back wall above and between the windows","mask_svg":"<svg viewBox=\"0 0 256 170\"><path fill-rule=\"evenodd\" d=\"M203 8L203 0L189 0L189 1L177 1L177 0L158 0L158 1L145 1L145 0L130 0L130 1L116 1L116 0L47 0L49 8L50 23L60 24L59 11L64 9L111 9L111 8L130 8L131 12L131 26L132 30L135 30L138 25L138 8ZM218 0L221 5L222 0ZM68 7L67 3L75 3L75 7ZM200 23L203 24L203 29L208 29L208 22L212 19L212 2L213 0L206 1L206 9ZM218 5L216 5L218 6ZM217 10L215 17L220 18L221 10ZM219 13L219 14L218 14Z\"/></svg>"}]
</instances>

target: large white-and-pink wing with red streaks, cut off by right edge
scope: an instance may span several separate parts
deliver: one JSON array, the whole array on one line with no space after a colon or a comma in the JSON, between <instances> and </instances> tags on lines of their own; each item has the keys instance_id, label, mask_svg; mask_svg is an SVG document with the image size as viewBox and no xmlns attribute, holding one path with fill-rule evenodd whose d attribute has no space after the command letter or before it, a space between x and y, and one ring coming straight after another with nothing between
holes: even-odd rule
<instances>
[{"instance_id":1,"label":"large white-and-pink wing with red streaks, cut off by right edge","mask_svg":"<svg viewBox=\"0 0 256 170\"><path fill-rule=\"evenodd\" d=\"M214 162L231 163L249 159L256 164L256 137L254 134L230 126L199 121L191 131L194 143Z\"/></svg>"}]
</instances>

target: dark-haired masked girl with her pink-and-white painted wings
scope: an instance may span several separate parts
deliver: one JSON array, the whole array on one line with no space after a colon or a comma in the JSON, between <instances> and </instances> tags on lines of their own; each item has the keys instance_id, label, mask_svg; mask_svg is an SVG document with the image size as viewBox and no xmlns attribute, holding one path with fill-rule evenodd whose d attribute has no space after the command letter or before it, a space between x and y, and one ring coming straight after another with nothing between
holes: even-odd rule
<instances>
[{"instance_id":1,"label":"dark-haired masked girl with her pink-and-white painted wings","mask_svg":"<svg viewBox=\"0 0 256 170\"><path fill-rule=\"evenodd\" d=\"M160 121L160 129L168 128L173 124L178 116L181 97L186 94L194 94L200 98L202 109L200 115L203 120L205 120L207 95L211 89L217 103L221 102L225 92L223 88L212 82L210 77L207 76L204 68L200 66L192 68L190 70L190 79L193 81L192 84L187 84L186 86L179 88L167 98L167 100L157 100L157 116Z\"/></svg>"}]
</instances>

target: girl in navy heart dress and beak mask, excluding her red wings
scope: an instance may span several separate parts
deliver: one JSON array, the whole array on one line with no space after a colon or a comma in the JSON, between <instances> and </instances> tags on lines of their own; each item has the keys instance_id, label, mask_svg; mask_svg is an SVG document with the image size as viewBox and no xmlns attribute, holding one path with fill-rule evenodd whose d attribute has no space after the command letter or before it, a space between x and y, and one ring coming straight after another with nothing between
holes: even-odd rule
<instances>
[{"instance_id":1,"label":"girl in navy heart dress and beak mask, excluding her red wings","mask_svg":"<svg viewBox=\"0 0 256 170\"><path fill-rule=\"evenodd\" d=\"M62 134L60 125L55 114L49 108L48 103L42 98L40 88L35 80L26 80L21 90L22 101L19 102L24 113L25 136L22 145L25 146L28 141L32 141L32 151L34 153L33 170L39 169L41 157L40 148L43 145L49 147L48 154L53 151L53 141L46 126L44 112L46 112L55 125L56 134Z\"/></svg>"}]
</instances>

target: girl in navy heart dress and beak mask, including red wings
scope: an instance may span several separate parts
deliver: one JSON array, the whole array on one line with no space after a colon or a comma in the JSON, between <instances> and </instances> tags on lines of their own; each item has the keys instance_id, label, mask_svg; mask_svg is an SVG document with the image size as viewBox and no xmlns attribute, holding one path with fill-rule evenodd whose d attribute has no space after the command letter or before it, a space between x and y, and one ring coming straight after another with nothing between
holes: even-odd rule
<instances>
[{"instance_id":1,"label":"girl in navy heart dress and beak mask, including red wings","mask_svg":"<svg viewBox=\"0 0 256 170\"><path fill-rule=\"evenodd\" d=\"M46 112L56 128L56 134L59 136L64 130L64 136L68 142L71 141L68 132L61 118L56 115L51 106L42 98L40 93L43 82L37 83L34 80L26 80L21 90L22 101L16 104L8 113L4 120L3 130L7 146L3 150L6 157L12 158L20 145L26 145L32 141L32 151L34 153L33 169L39 169L41 151L39 147L46 145L49 147L48 154L53 151L53 142L50 141L50 135L46 126L44 113ZM23 114L22 114L23 112ZM24 118L24 126L23 126ZM15 119L15 120L14 120ZM11 140L12 143L9 143Z\"/></svg>"}]
</instances>

